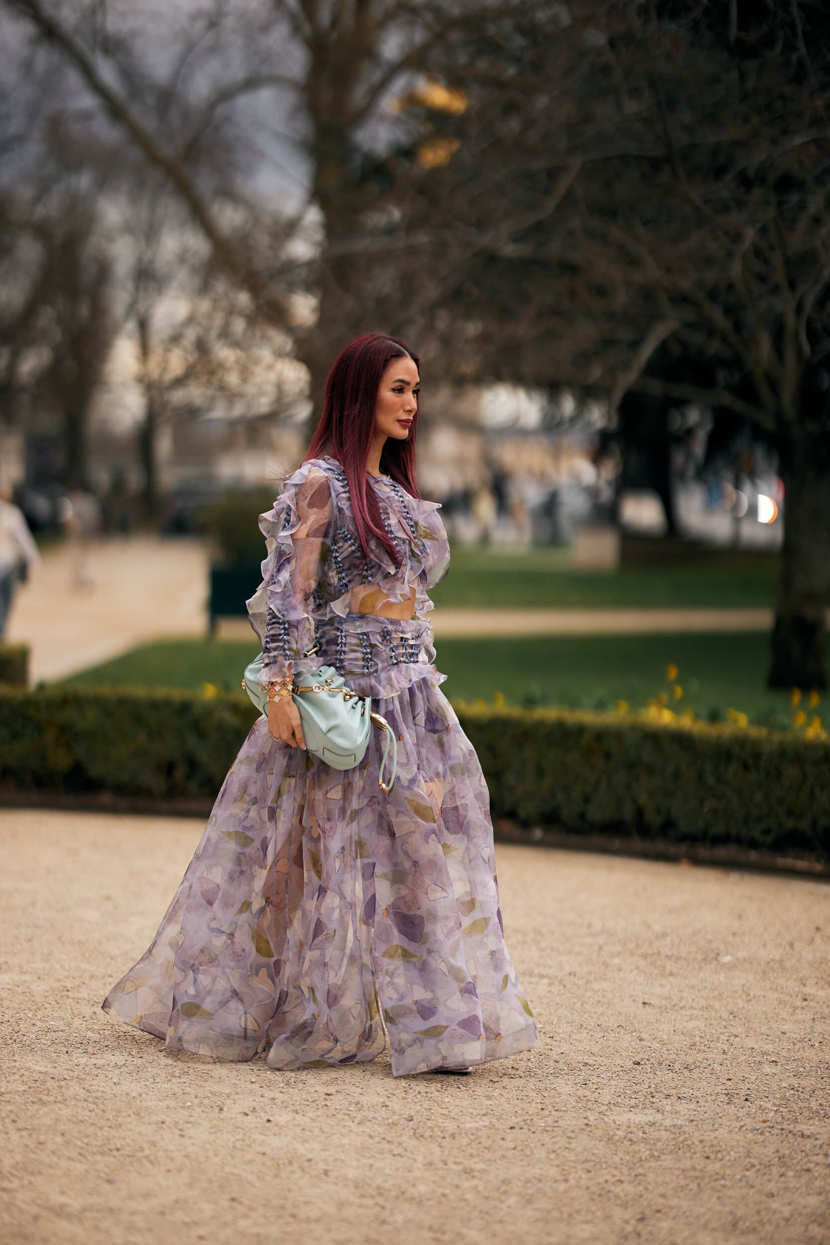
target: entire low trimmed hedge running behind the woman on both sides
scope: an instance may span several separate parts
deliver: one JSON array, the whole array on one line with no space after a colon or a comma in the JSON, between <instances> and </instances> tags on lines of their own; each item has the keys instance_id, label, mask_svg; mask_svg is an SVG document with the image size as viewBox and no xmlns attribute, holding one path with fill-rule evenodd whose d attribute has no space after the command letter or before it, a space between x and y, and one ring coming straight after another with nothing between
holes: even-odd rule
<instances>
[{"instance_id":1,"label":"entire low trimmed hedge running behind the woman on both sides","mask_svg":"<svg viewBox=\"0 0 830 1245\"><path fill-rule=\"evenodd\" d=\"M579 710L454 705L494 817L830 859L830 741ZM215 799L256 720L241 693L0 688L6 791Z\"/></svg>"}]
</instances>

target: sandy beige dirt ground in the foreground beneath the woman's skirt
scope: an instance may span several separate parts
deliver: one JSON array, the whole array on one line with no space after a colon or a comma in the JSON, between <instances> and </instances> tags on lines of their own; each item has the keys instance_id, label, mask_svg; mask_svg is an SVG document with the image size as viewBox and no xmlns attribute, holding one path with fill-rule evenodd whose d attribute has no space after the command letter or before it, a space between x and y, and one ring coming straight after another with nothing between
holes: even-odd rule
<instances>
[{"instance_id":1,"label":"sandy beige dirt ground in the foreground beneath the woman's skirt","mask_svg":"<svg viewBox=\"0 0 830 1245\"><path fill-rule=\"evenodd\" d=\"M826 883L499 844L541 1045L275 1072L101 1011L203 827L0 810L2 1245L830 1243Z\"/></svg>"}]
</instances>

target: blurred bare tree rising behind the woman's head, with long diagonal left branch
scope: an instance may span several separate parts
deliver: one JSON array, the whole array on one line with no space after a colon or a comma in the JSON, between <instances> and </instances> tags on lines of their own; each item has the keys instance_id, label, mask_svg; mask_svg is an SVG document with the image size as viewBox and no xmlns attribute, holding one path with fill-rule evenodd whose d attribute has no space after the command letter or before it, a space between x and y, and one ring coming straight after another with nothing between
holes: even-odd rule
<instances>
[{"instance_id":1,"label":"blurred bare tree rising behind the woman's head, with long diagonal left branch","mask_svg":"<svg viewBox=\"0 0 830 1245\"><path fill-rule=\"evenodd\" d=\"M438 54L447 57L450 49L467 46L483 20L506 27L520 10L518 0L261 0L233 6L225 35L229 22L248 32L251 62L214 78L193 110L195 122L183 133L169 108L179 88L178 70L173 75L168 68L163 82L151 81L146 66L141 72L133 67L136 50L111 31L100 37L92 17L70 24L50 0L4 2L75 66L136 151L168 179L209 240L217 265L250 293L261 315L290 325L286 300L297 290L314 291L317 315L295 324L294 336L317 407L332 355L366 327L367 308L376 320L388 309L401 311L407 295L399 281L385 296L389 273L412 273L411 256L422 260L431 243L429 230L406 228L412 171L426 171L418 158L423 117L385 110L396 92L429 71ZM202 51L193 44L184 40L190 65ZM207 136L218 118L258 92L287 93L294 101L294 138L309 169L307 195L290 219L254 209L244 229L230 228L205 193L194 156L209 146ZM239 203L238 190L230 198ZM319 220L317 244L297 255L286 244L311 208ZM441 293L441 285L436 289Z\"/></svg>"}]
</instances>

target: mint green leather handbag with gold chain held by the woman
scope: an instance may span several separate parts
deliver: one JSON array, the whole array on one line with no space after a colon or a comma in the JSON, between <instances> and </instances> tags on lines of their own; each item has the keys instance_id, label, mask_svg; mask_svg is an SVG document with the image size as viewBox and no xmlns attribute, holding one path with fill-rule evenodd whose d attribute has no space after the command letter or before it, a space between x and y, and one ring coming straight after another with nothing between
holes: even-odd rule
<instances>
[{"instance_id":1,"label":"mint green leather handbag with gold chain held by the woman","mask_svg":"<svg viewBox=\"0 0 830 1245\"><path fill-rule=\"evenodd\" d=\"M304 652L311 656L316 645ZM264 717L268 717L268 695L260 685L263 654L245 666L243 687ZM370 696L360 696L346 686L342 675L333 666L321 666L314 675L297 675L291 700L300 712L306 749L335 769L352 769L366 754L372 725L383 731L383 756L378 767L377 784L392 791L398 766L398 746L392 727L380 713L372 711ZM311 695L309 695L311 693ZM388 783L383 771L392 746L392 774Z\"/></svg>"}]
</instances>

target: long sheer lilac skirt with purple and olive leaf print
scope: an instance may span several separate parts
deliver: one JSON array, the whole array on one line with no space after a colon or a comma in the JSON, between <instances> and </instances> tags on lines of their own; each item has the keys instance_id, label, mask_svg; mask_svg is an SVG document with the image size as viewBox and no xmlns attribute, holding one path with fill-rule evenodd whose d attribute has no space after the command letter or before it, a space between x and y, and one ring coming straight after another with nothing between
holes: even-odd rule
<instances>
[{"instance_id":1,"label":"long sheer lilac skirt with purple and olive leaf print","mask_svg":"<svg viewBox=\"0 0 830 1245\"><path fill-rule=\"evenodd\" d=\"M258 718L105 1012L172 1050L263 1053L279 1069L373 1059L387 1036L393 1076L538 1045L504 940L475 751L427 676L372 707L398 741L388 794L381 731L338 771Z\"/></svg>"}]
</instances>

